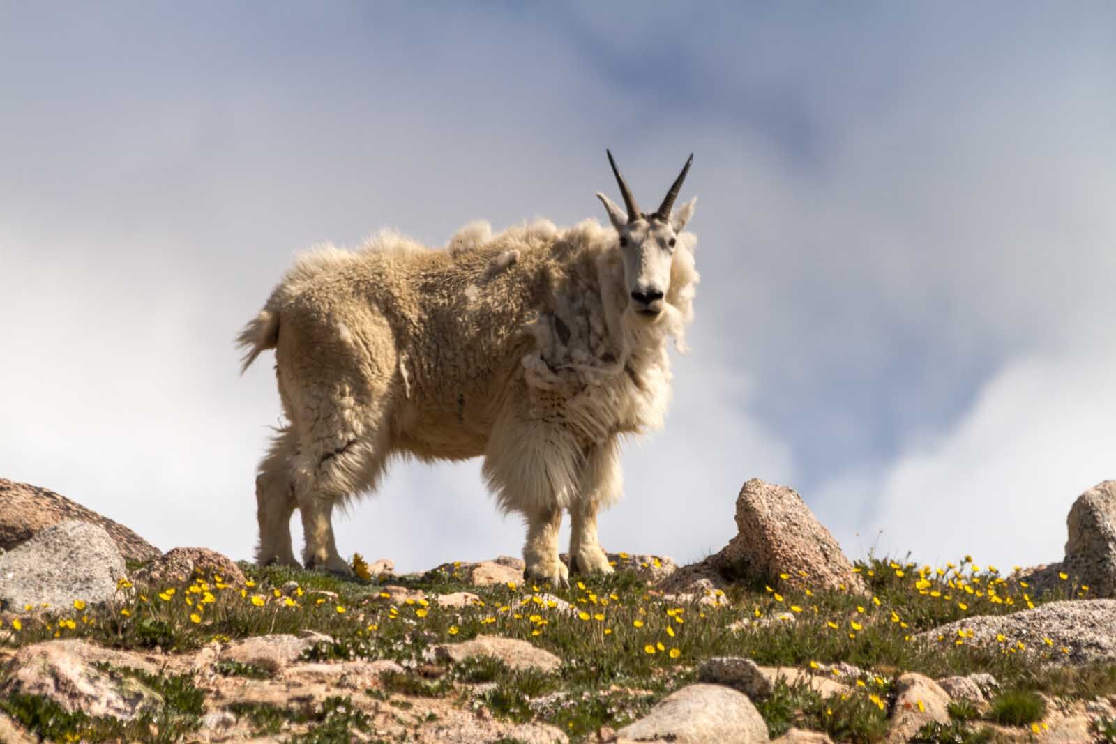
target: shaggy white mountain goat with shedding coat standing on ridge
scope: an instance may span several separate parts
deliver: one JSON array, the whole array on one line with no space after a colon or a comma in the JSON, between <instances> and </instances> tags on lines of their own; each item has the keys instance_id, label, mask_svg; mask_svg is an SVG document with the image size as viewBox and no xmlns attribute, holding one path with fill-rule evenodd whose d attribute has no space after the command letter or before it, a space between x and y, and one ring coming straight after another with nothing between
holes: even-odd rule
<instances>
[{"instance_id":1,"label":"shaggy white mountain goat with shedding coat standing on ridge","mask_svg":"<svg viewBox=\"0 0 1116 744\"><path fill-rule=\"evenodd\" d=\"M562 510L570 568L612 571L597 512L620 495L620 436L662 426L698 272L696 200L672 211L693 155L648 214L607 154L626 207L597 193L613 229L471 223L446 250L381 234L297 259L238 337L242 371L276 350L288 419L256 480L260 563L298 564L298 508L306 567L348 573L331 511L397 454L483 456L500 508L525 516L525 577L568 582Z\"/></svg>"}]
</instances>

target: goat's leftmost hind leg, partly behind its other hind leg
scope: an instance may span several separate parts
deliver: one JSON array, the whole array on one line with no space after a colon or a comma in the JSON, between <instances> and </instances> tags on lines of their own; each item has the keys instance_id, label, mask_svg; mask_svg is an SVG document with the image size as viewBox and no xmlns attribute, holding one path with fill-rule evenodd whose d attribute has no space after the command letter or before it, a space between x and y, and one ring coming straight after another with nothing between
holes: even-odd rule
<instances>
[{"instance_id":1,"label":"goat's leftmost hind leg, partly behind its other hind leg","mask_svg":"<svg viewBox=\"0 0 1116 744\"><path fill-rule=\"evenodd\" d=\"M295 512L295 455L297 446L289 429L282 429L260 462L256 476L256 519L260 543L256 562L298 566L290 544L290 518Z\"/></svg>"}]
</instances>

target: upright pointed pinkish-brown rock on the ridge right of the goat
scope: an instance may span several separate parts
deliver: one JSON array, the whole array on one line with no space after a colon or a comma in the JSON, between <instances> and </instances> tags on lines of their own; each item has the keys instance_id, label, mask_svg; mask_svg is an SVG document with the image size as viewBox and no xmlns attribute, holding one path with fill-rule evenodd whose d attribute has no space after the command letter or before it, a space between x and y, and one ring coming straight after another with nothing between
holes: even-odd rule
<instances>
[{"instance_id":1,"label":"upright pointed pinkish-brown rock on the ridge right of the goat","mask_svg":"<svg viewBox=\"0 0 1116 744\"><path fill-rule=\"evenodd\" d=\"M829 530L795 491L752 479L737 497L734 537L721 551L738 576L812 589L866 591Z\"/></svg>"}]
</instances>

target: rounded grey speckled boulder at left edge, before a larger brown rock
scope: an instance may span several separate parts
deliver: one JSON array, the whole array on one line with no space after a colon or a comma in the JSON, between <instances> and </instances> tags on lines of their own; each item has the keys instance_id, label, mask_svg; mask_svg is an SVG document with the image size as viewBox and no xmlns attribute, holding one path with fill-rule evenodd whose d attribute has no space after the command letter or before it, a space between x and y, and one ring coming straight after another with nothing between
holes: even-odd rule
<instances>
[{"instance_id":1,"label":"rounded grey speckled boulder at left edge, before a larger brown rock","mask_svg":"<svg viewBox=\"0 0 1116 744\"><path fill-rule=\"evenodd\" d=\"M124 578L124 557L96 524L66 521L40 530L0 555L0 606L69 608L80 599L107 602Z\"/></svg>"}]
</instances>

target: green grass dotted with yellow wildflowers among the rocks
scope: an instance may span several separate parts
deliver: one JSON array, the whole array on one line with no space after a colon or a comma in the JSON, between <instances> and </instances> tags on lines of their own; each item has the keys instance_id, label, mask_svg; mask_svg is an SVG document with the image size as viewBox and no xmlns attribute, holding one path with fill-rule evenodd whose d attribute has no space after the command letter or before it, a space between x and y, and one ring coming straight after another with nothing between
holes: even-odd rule
<instances>
[{"instance_id":1,"label":"green grass dotted with yellow wildflowers among the rocks","mask_svg":"<svg viewBox=\"0 0 1116 744\"><path fill-rule=\"evenodd\" d=\"M624 560L617 568L624 568ZM367 733L362 728L367 723L360 717L362 704L393 699L393 694L414 698L444 697L454 692L472 696L474 705L487 706L497 717L551 723L571 741L585 741L602 725L618 728L644 715L663 696L692 683L696 665L711 656L747 656L758 664L797 667L846 661L870 673L865 687L854 686L845 698L829 700L808 688L777 685L771 697L758 704L772 737L793 725L826 731L835 741L879 741L887 725L891 680L905 670L931 677L988 671L1013 695L1036 690L1064 697L1116 693L1114 664L1072 671L1039 664L1057 660L1059 649L1030 648L1024 654L1010 644L980 645L966 639L916 642L918 632L954 620L1004 615L1087 595L1068 579L1056 591L1032 593L1018 579L990 567L977 568L971 560L931 569L906 559L869 557L855 564L867 586L865 593L809 588L795 584L790 577L772 577L769 582L734 586L724 606L716 608L667 602L634 571L625 570L575 579L571 587L562 589L519 582L475 588L463 583L458 567L448 566L392 579L392 583L426 596L393 602L375 581L282 567L241 567L248 577L244 586L217 577L198 577L174 586L122 582L115 600L106 607L78 609L75 605L54 608L47 615L26 613L18 618L18 629L9 621L7 627L15 635L8 642L22 646L77 637L117 648L190 651L213 640L309 629L333 640L309 649L304 655L308 660L393 659L414 669L426 664L433 646L485 634L519 638L562 659L554 674L513 671L493 659L471 659L434 680L414 671L388 673L381 678L381 688L369 689L357 704L336 698L328 709L278 711L246 704L229 708L263 733L276 733L283 722L317 732L312 736L318 738L305 741L344 737L345 732ZM439 607L437 595L463 589L480 596L482 602ZM540 596L543 593L569 602L574 611L549 606ZM789 613L793 621L775 619L781 613ZM731 626L739 630L730 630ZM270 676L264 669L231 661L218 663L215 670L257 679ZM134 677L143 682L138 675ZM171 703L169 698L160 715L177 711L177 722L170 725L185 732L196 717L185 713L196 707L190 702L189 688L181 680L148 682L161 695L174 699ZM492 686L473 687L485 683ZM182 685L181 689L176 692L173 684ZM1016 698L1000 699L1006 702L1000 703L1002 709L997 715L1004 719L1032 715L1026 713L1024 704L1010 702ZM41 700L8 700L4 705L36 721L37 732L60 726L58 731L81 732L89 741L104 741L127 737L132 731L114 728L117 724L109 722L71 717L79 714L68 717ZM972 718L975 711L954 706L953 713L962 721ZM974 733L963 733L963 726L953 728L927 731L925 736L937 738L926 741L980 741L972 738ZM115 733L104 733L108 731Z\"/></svg>"}]
</instances>

